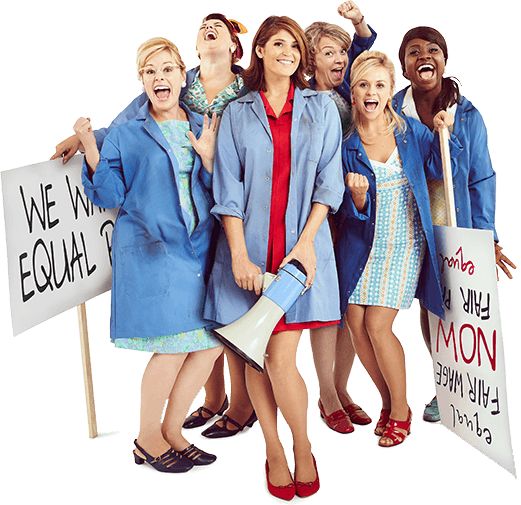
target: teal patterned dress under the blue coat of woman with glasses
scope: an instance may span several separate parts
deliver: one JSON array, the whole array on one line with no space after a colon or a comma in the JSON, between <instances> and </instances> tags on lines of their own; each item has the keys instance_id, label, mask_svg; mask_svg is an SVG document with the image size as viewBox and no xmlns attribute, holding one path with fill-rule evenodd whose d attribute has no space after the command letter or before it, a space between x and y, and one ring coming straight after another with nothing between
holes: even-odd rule
<instances>
[{"instance_id":1,"label":"teal patterned dress under the blue coat of woman with glasses","mask_svg":"<svg viewBox=\"0 0 521 505\"><path fill-rule=\"evenodd\" d=\"M190 181L194 165L194 151L187 136L190 124L188 121L171 119L162 121L158 123L158 125L174 151L174 156L179 163L179 199L187 228L190 234L192 234L197 226L197 212L190 191ZM160 337L118 338L115 339L114 344L116 347L122 349L161 354L202 351L221 345L212 335L212 332L205 328Z\"/></svg>"}]
</instances>

